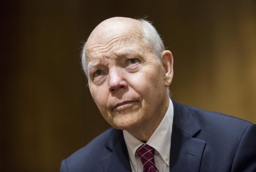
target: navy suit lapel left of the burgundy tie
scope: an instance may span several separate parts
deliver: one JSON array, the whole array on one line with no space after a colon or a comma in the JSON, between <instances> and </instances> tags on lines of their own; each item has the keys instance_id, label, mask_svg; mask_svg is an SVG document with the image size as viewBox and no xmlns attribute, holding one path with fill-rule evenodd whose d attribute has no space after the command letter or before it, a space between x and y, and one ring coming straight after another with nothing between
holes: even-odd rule
<instances>
[{"instance_id":1,"label":"navy suit lapel left of the burgundy tie","mask_svg":"<svg viewBox=\"0 0 256 172\"><path fill-rule=\"evenodd\" d=\"M122 130L112 129L106 147L110 153L101 160L104 172L132 171Z\"/></svg>"}]
</instances>

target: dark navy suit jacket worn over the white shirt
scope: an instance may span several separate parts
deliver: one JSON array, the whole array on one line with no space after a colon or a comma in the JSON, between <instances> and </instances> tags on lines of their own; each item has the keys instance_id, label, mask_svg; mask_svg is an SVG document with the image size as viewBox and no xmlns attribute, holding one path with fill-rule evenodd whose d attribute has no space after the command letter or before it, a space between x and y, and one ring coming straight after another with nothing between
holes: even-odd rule
<instances>
[{"instance_id":1,"label":"dark navy suit jacket worn over the white shirt","mask_svg":"<svg viewBox=\"0 0 256 172\"><path fill-rule=\"evenodd\" d=\"M173 108L170 171L256 171L255 124L174 101ZM60 171L132 171L122 130L100 134Z\"/></svg>"}]
</instances>

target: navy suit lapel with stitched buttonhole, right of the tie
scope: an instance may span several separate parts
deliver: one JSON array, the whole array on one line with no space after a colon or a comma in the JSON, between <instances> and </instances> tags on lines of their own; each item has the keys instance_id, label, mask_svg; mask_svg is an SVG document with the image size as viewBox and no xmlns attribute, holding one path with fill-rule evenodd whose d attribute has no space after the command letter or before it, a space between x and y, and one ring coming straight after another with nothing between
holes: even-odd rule
<instances>
[{"instance_id":1,"label":"navy suit lapel with stitched buttonhole, right of the tie","mask_svg":"<svg viewBox=\"0 0 256 172\"><path fill-rule=\"evenodd\" d=\"M205 141L195 137L200 127L189 109L174 101L170 171L200 171Z\"/></svg>"}]
</instances>

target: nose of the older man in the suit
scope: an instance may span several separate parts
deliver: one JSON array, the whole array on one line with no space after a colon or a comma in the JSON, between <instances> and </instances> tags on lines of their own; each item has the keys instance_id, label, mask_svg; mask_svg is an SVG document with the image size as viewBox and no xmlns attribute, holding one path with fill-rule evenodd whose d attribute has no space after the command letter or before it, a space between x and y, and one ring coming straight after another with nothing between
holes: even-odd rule
<instances>
[{"instance_id":1,"label":"nose of the older man in the suit","mask_svg":"<svg viewBox=\"0 0 256 172\"><path fill-rule=\"evenodd\" d=\"M109 70L108 77L109 77L109 86L108 86L109 92L114 93L120 89L128 88L127 81L124 79L124 74L122 73L122 71L117 69Z\"/></svg>"}]
</instances>

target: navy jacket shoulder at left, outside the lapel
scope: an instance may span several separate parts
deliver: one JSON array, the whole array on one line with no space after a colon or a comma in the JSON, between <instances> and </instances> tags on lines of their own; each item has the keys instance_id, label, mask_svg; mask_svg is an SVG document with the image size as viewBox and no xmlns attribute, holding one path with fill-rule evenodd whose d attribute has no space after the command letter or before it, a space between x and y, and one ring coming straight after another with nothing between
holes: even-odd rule
<instances>
[{"instance_id":1,"label":"navy jacket shoulder at left, outside the lapel","mask_svg":"<svg viewBox=\"0 0 256 172\"><path fill-rule=\"evenodd\" d=\"M101 159L110 152L105 145L112 130L109 128L64 160L68 171L101 171L96 168L101 168Z\"/></svg>"}]
</instances>

